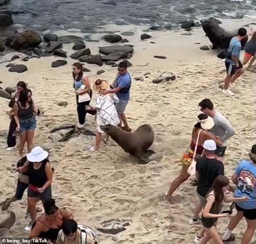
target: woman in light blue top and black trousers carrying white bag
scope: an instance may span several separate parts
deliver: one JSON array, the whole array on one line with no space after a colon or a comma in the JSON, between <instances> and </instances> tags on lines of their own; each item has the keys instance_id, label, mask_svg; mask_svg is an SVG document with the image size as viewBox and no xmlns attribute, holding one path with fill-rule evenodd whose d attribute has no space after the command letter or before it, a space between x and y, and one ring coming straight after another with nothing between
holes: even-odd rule
<instances>
[{"instance_id":1,"label":"woman in light blue top and black trousers carrying white bag","mask_svg":"<svg viewBox=\"0 0 256 244\"><path fill-rule=\"evenodd\" d=\"M90 85L89 78L84 75L83 67L81 63L73 64L73 88L75 88L76 93L76 103L78 112L78 128L85 128L85 117L86 113L92 113L86 111L86 106L90 104L92 98L92 89Z\"/></svg>"}]
</instances>

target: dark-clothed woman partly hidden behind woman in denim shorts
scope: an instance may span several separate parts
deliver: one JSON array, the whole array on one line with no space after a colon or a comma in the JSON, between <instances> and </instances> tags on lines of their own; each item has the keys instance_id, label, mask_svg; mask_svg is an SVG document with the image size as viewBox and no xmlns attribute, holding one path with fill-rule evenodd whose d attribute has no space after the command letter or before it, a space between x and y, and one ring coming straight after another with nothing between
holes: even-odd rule
<instances>
[{"instance_id":1,"label":"dark-clothed woman partly hidden behind woman in denim shorts","mask_svg":"<svg viewBox=\"0 0 256 244\"><path fill-rule=\"evenodd\" d=\"M12 94L12 99L9 102L9 107L11 108L11 110L8 112L8 115L10 118L10 126L9 126L9 132L7 137L8 147L6 148L6 151L10 151L16 148L16 137L13 136L13 132L16 130L17 124L14 119L13 106L15 102L18 101L20 92L25 88L27 88L25 82L19 81L17 83L17 90Z\"/></svg>"}]
</instances>

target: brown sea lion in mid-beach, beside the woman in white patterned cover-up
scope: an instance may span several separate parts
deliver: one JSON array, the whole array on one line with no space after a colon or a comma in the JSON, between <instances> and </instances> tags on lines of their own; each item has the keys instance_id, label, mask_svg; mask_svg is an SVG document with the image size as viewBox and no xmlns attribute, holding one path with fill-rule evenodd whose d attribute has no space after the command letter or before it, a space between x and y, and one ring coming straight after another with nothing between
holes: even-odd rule
<instances>
[{"instance_id":1,"label":"brown sea lion in mid-beach, beside the woman in white patterned cover-up","mask_svg":"<svg viewBox=\"0 0 256 244\"><path fill-rule=\"evenodd\" d=\"M150 125L141 125L134 132L124 131L114 125L101 125L100 127L121 146L125 152L135 155L139 161L141 161L141 164L149 162L149 154L154 152L147 149L152 145L155 137L154 131Z\"/></svg>"}]
</instances>

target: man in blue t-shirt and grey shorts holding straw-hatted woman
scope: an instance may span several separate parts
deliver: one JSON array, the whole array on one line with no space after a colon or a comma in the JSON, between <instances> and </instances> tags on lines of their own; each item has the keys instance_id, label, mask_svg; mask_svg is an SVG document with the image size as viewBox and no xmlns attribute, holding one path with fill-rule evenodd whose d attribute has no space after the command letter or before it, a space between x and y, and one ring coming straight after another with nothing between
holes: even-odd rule
<instances>
[{"instance_id":1,"label":"man in blue t-shirt and grey shorts holding straw-hatted woman","mask_svg":"<svg viewBox=\"0 0 256 244\"><path fill-rule=\"evenodd\" d=\"M122 127L121 121L123 121L124 127L122 127L122 129L124 129L125 131L131 131L126 120L126 116L124 114L126 106L130 100L131 86L132 78L127 71L127 64L125 62L120 62L118 65L118 75L113 82L114 88L101 92L103 95L115 93L118 96L119 102L115 105L115 108L120 118L120 127Z\"/></svg>"}]
</instances>

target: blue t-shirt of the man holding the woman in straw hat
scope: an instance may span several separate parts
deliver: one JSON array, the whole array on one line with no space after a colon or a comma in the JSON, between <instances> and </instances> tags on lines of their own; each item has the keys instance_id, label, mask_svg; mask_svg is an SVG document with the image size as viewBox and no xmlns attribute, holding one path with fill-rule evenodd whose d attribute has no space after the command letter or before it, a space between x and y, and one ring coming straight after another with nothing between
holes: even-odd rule
<instances>
[{"instance_id":1,"label":"blue t-shirt of the man holding the woman in straw hat","mask_svg":"<svg viewBox=\"0 0 256 244\"><path fill-rule=\"evenodd\" d=\"M130 87L132 84L132 79L130 74L126 72L124 75L119 75L116 77L117 87L122 88L120 92L117 92L119 100L128 100L130 99Z\"/></svg>"}]
</instances>

